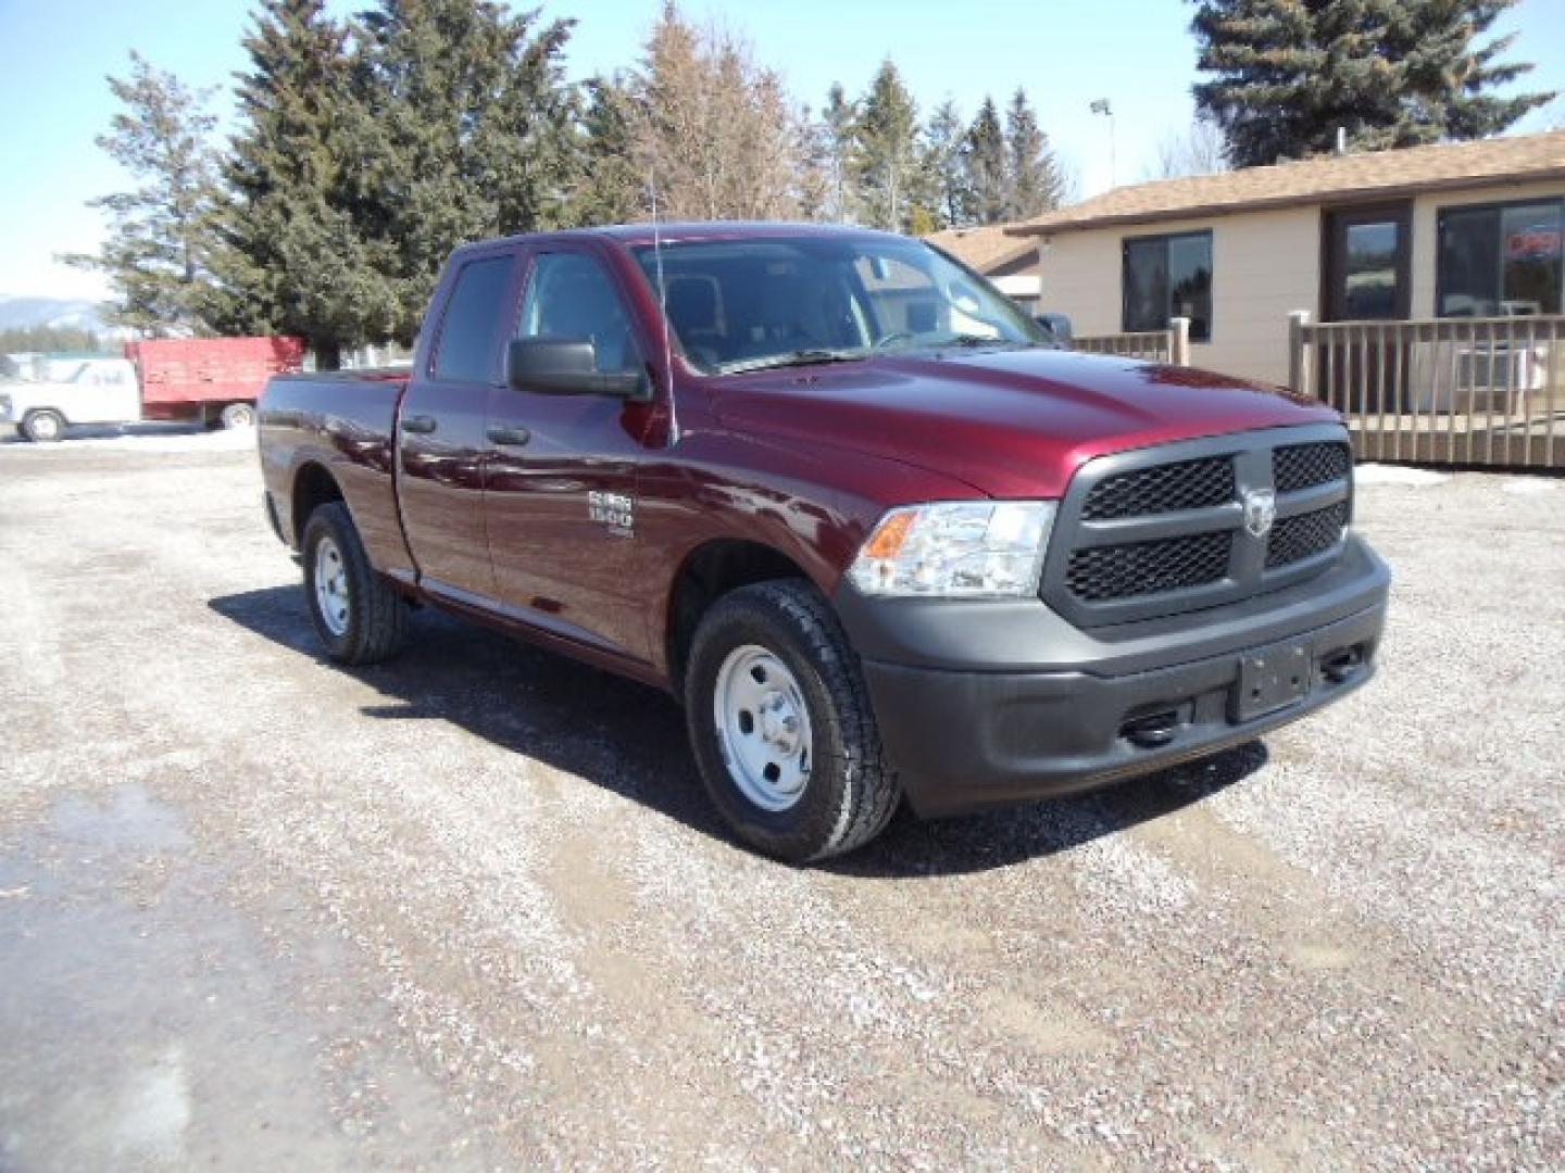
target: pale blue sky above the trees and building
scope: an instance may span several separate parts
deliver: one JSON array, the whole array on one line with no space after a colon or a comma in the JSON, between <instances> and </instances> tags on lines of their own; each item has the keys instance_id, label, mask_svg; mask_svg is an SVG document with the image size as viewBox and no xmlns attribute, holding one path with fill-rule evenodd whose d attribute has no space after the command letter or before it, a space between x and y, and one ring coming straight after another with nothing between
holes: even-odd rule
<instances>
[{"instance_id":1,"label":"pale blue sky above the trees and building","mask_svg":"<svg viewBox=\"0 0 1565 1173\"><path fill-rule=\"evenodd\" d=\"M577 20L573 77L635 61L660 6L541 2L548 16ZM360 6L333 5L343 13ZM95 247L102 224L85 200L122 183L92 144L113 114L105 74L125 72L136 48L192 84L225 88L244 64L238 41L249 8L243 0L0 0L0 294L102 296L99 277L52 258ZM1111 178L1108 125L1088 111L1092 99L1113 103L1121 183L1141 178L1157 144L1191 117L1196 52L1182 0L685 0L684 9L745 34L812 106L833 81L862 92L887 55L925 113L952 97L970 117L984 94L998 102L1022 84L1083 194ZM1537 66L1526 84L1565 92L1565 0L1523 0L1502 20L1501 31L1520 33L1512 56ZM222 97L219 108L227 109ZM1521 130L1560 122L1565 100Z\"/></svg>"}]
</instances>

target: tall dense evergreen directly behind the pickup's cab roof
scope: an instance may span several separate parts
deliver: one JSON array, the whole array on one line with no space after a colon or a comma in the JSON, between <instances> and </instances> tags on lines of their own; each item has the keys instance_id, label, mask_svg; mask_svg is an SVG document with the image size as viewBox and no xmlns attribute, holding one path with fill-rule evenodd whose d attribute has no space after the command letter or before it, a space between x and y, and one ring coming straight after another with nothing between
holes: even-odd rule
<instances>
[{"instance_id":1,"label":"tall dense evergreen directly behind the pickup's cab roof","mask_svg":"<svg viewBox=\"0 0 1565 1173\"><path fill-rule=\"evenodd\" d=\"M391 336L408 343L451 250L556 227L574 109L568 22L534 28L491 0L379 0L355 59L358 222L390 267Z\"/></svg>"}]
</instances>

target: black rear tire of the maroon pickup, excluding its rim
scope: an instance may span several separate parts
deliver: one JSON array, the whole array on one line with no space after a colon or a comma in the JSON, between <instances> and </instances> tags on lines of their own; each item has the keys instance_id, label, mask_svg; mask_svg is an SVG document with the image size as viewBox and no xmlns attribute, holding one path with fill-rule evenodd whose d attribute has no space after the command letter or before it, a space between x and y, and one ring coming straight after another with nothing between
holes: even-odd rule
<instances>
[{"instance_id":1,"label":"black rear tire of the maroon pickup, excluding its rim","mask_svg":"<svg viewBox=\"0 0 1565 1173\"><path fill-rule=\"evenodd\" d=\"M346 615L336 613L329 619L318 576L322 551L333 549L343 574ZM315 632L326 644L326 654L338 663L380 663L402 647L407 602L369 565L354 518L340 500L318 507L305 522L304 594Z\"/></svg>"}]
</instances>

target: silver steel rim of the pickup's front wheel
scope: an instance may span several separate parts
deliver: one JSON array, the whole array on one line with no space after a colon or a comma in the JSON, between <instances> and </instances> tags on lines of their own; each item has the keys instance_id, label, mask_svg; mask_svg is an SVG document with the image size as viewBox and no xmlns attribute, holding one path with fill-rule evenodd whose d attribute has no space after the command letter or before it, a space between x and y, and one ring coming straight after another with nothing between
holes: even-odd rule
<instances>
[{"instance_id":1,"label":"silver steel rim of the pickup's front wheel","mask_svg":"<svg viewBox=\"0 0 1565 1173\"><path fill-rule=\"evenodd\" d=\"M759 644L736 647L717 671L712 716L728 776L750 802L781 812L809 785L809 705L798 679Z\"/></svg>"}]
</instances>

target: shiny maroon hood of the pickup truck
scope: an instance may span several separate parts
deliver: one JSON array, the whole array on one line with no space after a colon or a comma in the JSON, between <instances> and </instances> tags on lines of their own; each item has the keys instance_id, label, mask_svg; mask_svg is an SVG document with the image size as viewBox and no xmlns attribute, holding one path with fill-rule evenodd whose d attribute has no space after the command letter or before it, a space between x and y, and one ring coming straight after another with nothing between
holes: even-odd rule
<instances>
[{"instance_id":1,"label":"shiny maroon hood of the pickup truck","mask_svg":"<svg viewBox=\"0 0 1565 1173\"><path fill-rule=\"evenodd\" d=\"M1194 368L1067 350L884 355L728 375L726 429L889 457L995 497L1058 497L1085 461L1337 411Z\"/></svg>"}]
</instances>

